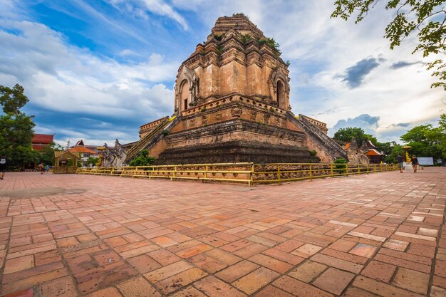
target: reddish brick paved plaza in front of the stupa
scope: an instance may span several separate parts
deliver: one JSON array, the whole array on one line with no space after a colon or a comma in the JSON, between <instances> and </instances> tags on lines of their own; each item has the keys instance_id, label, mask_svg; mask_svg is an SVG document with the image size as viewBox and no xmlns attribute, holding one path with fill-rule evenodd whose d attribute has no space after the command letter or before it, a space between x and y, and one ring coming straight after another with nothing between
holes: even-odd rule
<instances>
[{"instance_id":1,"label":"reddish brick paved plaza in front of the stupa","mask_svg":"<svg viewBox=\"0 0 446 297\"><path fill-rule=\"evenodd\" d=\"M7 173L1 295L446 296L446 169L247 187Z\"/></svg>"}]
</instances>

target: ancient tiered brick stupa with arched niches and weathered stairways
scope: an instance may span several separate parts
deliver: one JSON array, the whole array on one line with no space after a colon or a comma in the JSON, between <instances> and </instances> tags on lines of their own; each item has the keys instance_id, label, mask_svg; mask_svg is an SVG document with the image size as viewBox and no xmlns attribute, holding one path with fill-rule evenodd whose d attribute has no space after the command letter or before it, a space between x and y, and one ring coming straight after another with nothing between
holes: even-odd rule
<instances>
[{"instance_id":1,"label":"ancient tiered brick stupa with arched niches and weathered stairways","mask_svg":"<svg viewBox=\"0 0 446 297\"><path fill-rule=\"evenodd\" d=\"M325 123L291 113L288 65L280 55L244 14L217 19L178 69L174 117L142 125L127 161L142 149L159 164L346 157Z\"/></svg>"}]
</instances>

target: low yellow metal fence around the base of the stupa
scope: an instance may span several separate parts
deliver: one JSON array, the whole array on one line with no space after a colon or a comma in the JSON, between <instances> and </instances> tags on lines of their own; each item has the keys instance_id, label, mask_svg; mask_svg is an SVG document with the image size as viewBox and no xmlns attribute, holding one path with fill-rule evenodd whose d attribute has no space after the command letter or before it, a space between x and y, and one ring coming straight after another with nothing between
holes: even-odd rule
<instances>
[{"instance_id":1,"label":"low yellow metal fence around the base of the stupa","mask_svg":"<svg viewBox=\"0 0 446 297\"><path fill-rule=\"evenodd\" d=\"M119 177L161 179L195 179L213 182L267 184L300 179L338 177L398 170L393 164L327 164L327 163L222 163L191 165L157 165L136 167L78 168L78 174L100 174Z\"/></svg>"}]
</instances>

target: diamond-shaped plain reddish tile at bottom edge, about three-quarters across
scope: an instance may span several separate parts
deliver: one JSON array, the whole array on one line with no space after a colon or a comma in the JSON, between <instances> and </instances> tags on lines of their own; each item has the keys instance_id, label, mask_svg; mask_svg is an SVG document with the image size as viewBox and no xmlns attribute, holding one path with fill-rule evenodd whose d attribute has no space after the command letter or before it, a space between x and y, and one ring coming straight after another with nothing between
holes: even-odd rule
<instances>
[{"instance_id":1,"label":"diamond-shaped plain reddish tile at bottom edge, about three-quarters across","mask_svg":"<svg viewBox=\"0 0 446 297\"><path fill-rule=\"evenodd\" d=\"M340 295L355 275L346 271L329 268L313 281L313 285L330 293Z\"/></svg>"}]
</instances>

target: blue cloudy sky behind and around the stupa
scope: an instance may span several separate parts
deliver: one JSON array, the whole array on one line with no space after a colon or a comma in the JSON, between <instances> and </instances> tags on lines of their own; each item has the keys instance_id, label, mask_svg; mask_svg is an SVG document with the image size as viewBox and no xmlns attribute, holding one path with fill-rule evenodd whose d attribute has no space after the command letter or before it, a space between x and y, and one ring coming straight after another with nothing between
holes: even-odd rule
<instances>
[{"instance_id":1,"label":"blue cloudy sky behind and around the stupa","mask_svg":"<svg viewBox=\"0 0 446 297\"><path fill-rule=\"evenodd\" d=\"M380 141L436 123L445 92L412 55L383 38L393 15L330 19L331 0L0 0L0 85L24 86L36 132L64 145L138 140L173 113L178 67L219 16L243 12L291 61L295 114L331 128L363 127Z\"/></svg>"}]
</instances>

